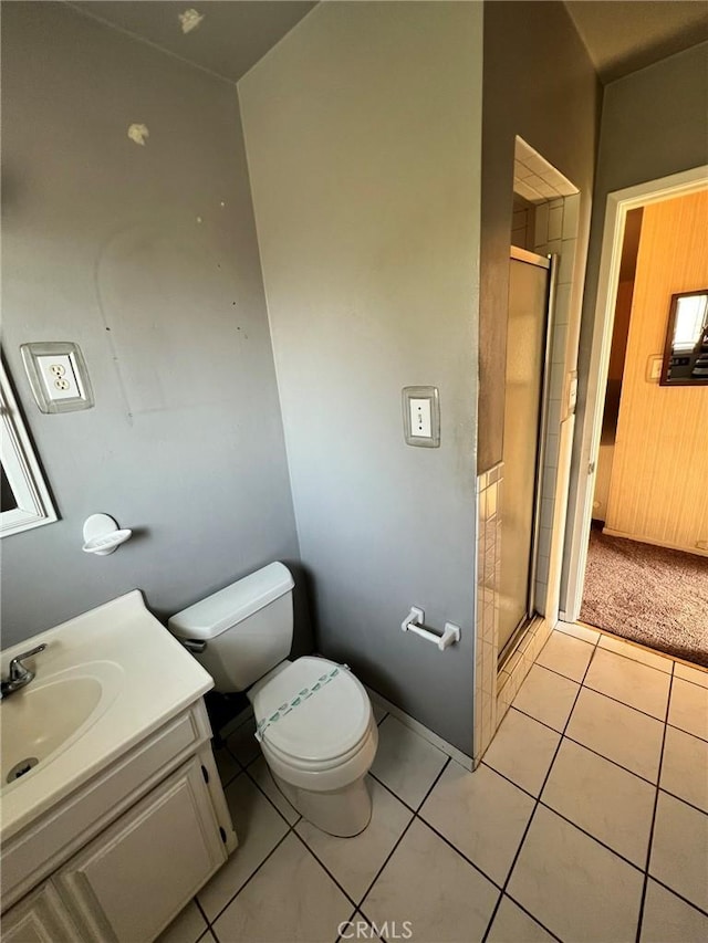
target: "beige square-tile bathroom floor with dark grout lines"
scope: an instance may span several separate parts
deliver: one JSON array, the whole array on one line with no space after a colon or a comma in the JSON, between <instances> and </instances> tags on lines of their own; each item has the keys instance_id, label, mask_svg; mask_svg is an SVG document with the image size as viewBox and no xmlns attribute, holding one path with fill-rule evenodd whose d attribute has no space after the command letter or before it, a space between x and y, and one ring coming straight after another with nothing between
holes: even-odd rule
<instances>
[{"instance_id":1,"label":"beige square-tile bathroom floor with dark grout lines","mask_svg":"<svg viewBox=\"0 0 708 943\"><path fill-rule=\"evenodd\" d=\"M708 940L708 672L562 626L476 773L378 722L351 839L282 798L252 722L231 735L241 845L160 943Z\"/></svg>"}]
</instances>

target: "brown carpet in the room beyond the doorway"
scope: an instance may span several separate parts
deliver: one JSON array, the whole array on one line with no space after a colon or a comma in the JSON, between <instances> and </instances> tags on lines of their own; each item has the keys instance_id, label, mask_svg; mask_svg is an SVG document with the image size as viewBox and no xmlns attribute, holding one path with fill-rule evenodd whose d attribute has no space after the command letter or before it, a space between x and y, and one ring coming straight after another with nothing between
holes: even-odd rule
<instances>
[{"instance_id":1,"label":"brown carpet in the room beyond the doorway","mask_svg":"<svg viewBox=\"0 0 708 943\"><path fill-rule=\"evenodd\" d=\"M580 618L708 668L708 557L608 537L593 525Z\"/></svg>"}]
</instances>

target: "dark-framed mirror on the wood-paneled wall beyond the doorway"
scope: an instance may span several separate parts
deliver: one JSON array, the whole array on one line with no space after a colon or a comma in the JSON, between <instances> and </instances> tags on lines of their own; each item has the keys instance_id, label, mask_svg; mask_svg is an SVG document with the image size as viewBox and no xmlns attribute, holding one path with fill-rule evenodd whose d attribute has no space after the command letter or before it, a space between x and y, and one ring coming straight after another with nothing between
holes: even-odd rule
<instances>
[{"instance_id":1,"label":"dark-framed mirror on the wood-paneled wall beyond the doorway","mask_svg":"<svg viewBox=\"0 0 708 943\"><path fill-rule=\"evenodd\" d=\"M708 289L671 295L660 386L708 384Z\"/></svg>"}]
</instances>

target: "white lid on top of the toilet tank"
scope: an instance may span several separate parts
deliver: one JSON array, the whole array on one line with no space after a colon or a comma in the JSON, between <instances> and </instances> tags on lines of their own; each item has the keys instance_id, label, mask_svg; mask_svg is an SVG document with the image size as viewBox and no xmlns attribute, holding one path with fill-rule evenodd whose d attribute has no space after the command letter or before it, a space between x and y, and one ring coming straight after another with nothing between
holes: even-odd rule
<instances>
[{"instance_id":1,"label":"white lid on top of the toilet tank","mask_svg":"<svg viewBox=\"0 0 708 943\"><path fill-rule=\"evenodd\" d=\"M271 563L177 612L167 628L181 639L211 639L290 593L293 586L288 567Z\"/></svg>"}]
</instances>

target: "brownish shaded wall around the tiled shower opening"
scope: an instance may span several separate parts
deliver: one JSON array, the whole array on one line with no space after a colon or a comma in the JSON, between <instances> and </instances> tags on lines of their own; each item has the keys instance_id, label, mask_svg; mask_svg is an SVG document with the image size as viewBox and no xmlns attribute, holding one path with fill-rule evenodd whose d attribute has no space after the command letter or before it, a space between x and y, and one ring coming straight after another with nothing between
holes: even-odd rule
<instances>
[{"instance_id":1,"label":"brownish shaded wall around the tiled shower opening","mask_svg":"<svg viewBox=\"0 0 708 943\"><path fill-rule=\"evenodd\" d=\"M485 4L478 469L501 460L514 136L581 191L587 244L601 91L560 2ZM580 295L577 295L580 296Z\"/></svg>"}]
</instances>

